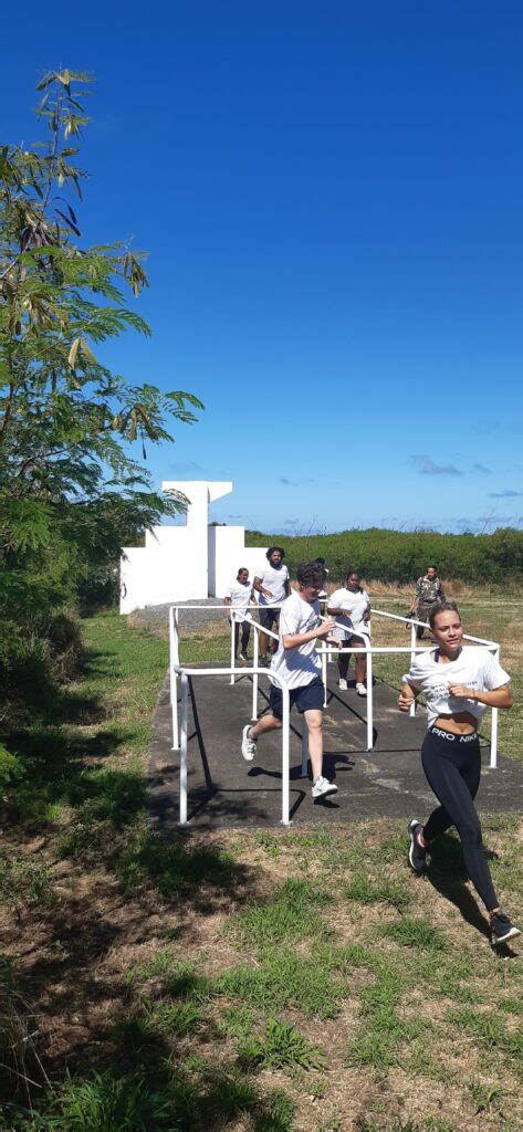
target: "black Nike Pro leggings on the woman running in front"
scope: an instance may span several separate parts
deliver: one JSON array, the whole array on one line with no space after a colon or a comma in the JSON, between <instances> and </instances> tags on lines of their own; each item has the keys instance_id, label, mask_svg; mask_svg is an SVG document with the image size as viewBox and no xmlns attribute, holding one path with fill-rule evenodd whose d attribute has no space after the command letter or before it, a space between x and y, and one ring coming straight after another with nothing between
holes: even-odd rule
<instances>
[{"instance_id":1,"label":"black Nike Pro leggings on the woman running in front","mask_svg":"<svg viewBox=\"0 0 523 1132\"><path fill-rule=\"evenodd\" d=\"M498 907L492 877L483 852L481 825L473 798L481 777L481 756L477 735L451 735L434 727L421 747L427 781L441 803L432 811L423 829L423 839L432 841L451 825L460 834L466 872L487 911Z\"/></svg>"}]
</instances>

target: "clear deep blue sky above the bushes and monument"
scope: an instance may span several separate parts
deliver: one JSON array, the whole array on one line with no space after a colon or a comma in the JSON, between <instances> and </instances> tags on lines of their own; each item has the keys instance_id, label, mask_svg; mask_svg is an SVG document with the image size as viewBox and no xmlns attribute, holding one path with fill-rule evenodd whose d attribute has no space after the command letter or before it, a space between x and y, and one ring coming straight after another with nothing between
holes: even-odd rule
<instances>
[{"instance_id":1,"label":"clear deep blue sky above the bushes and monument","mask_svg":"<svg viewBox=\"0 0 523 1132\"><path fill-rule=\"evenodd\" d=\"M206 405L157 481L232 479L214 517L265 531L521 523L521 6L7 19L2 137L93 71L83 233L149 252L153 338L104 359Z\"/></svg>"}]
</instances>

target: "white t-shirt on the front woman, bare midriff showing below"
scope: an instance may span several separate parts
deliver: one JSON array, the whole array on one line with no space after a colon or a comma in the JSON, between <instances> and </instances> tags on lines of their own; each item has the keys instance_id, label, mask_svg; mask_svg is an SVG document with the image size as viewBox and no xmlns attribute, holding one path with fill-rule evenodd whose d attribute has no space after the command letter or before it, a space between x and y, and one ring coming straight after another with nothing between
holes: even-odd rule
<instances>
[{"instance_id":1,"label":"white t-shirt on the front woman, bare midriff showing below","mask_svg":"<svg viewBox=\"0 0 523 1132\"><path fill-rule=\"evenodd\" d=\"M427 704L428 727L431 727L438 715L452 715L454 712L468 711L480 721L487 711L487 704L475 700L462 700L451 696L449 684L464 684L466 688L478 688L479 692L492 692L508 684L508 672L492 657L491 652L478 645L463 648L456 660L448 664L438 663L435 652L419 652L411 664L410 672L403 677L409 684L423 693Z\"/></svg>"}]
</instances>

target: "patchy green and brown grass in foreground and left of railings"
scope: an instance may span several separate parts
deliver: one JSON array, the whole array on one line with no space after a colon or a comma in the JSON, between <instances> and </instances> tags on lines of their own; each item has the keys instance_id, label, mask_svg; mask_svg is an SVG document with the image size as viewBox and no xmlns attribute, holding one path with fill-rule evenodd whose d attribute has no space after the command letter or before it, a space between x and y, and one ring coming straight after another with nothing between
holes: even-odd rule
<instances>
[{"instance_id":1,"label":"patchy green and brown grass in foreground and left of railings","mask_svg":"<svg viewBox=\"0 0 523 1132\"><path fill-rule=\"evenodd\" d=\"M42 1086L34 1110L11 1074L0 1132L317 1132L344 1126L343 1098L359 1132L465 1132L482 1118L486 1132L515 1132L521 975L463 916L458 839L439 840L420 884L404 822L162 838L145 822L144 755L165 644L112 615L84 632L85 679L17 744L25 779L2 822L0 901L12 953L31 954L34 935L48 974L26 1004L15 959L0 1014L16 1005L22 1049L34 1014L54 1032L52 1010L59 1026L88 1015L97 988L108 1009L94 1041L71 1044L71 1077L52 1066L52 1087L38 1075L43 1030L26 1062ZM517 919L514 816L483 829ZM63 932L71 909L78 946ZM0 1052L7 1064L12 1050Z\"/></svg>"}]
</instances>

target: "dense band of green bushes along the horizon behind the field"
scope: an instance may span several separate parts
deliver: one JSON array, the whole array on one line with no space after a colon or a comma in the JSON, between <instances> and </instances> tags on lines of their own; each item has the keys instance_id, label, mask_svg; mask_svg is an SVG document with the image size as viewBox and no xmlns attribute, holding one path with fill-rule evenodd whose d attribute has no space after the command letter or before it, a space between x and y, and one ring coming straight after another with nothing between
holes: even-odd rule
<instances>
[{"instance_id":1,"label":"dense band of green bushes along the horizon behind the field","mask_svg":"<svg viewBox=\"0 0 523 1132\"><path fill-rule=\"evenodd\" d=\"M499 528L494 534L403 532L376 526L294 538L248 531L246 542L249 547L281 543L292 573L298 563L323 555L333 582L349 568L358 569L366 578L402 584L412 582L428 565L434 565L441 577L473 584L515 585L521 580L523 560L523 531L513 526Z\"/></svg>"}]
</instances>

